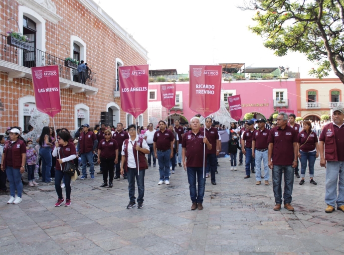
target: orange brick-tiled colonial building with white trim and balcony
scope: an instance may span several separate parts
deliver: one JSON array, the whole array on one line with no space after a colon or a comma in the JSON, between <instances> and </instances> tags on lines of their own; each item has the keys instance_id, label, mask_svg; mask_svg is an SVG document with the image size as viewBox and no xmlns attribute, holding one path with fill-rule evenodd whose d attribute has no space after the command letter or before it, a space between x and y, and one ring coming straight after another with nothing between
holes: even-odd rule
<instances>
[{"instance_id":1,"label":"orange brick-tiled colonial building with white trim and balcony","mask_svg":"<svg viewBox=\"0 0 344 255\"><path fill-rule=\"evenodd\" d=\"M46 65L59 66L57 127L94 126L101 112L111 125L135 123L120 107L118 67L147 64L147 51L93 0L3 0L0 9L0 133L27 127L35 108L30 67ZM8 38L12 30L29 43ZM84 81L67 57L88 63ZM139 123L147 121L146 112Z\"/></svg>"}]
</instances>

